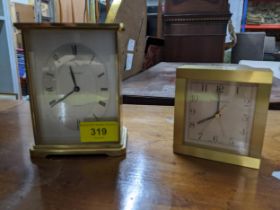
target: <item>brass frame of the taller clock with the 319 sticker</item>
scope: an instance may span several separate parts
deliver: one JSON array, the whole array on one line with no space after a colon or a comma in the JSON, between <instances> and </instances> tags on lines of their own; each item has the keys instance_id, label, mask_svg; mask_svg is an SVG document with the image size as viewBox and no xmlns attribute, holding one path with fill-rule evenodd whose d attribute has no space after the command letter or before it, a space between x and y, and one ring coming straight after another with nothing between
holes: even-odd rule
<instances>
[{"instance_id":1,"label":"brass frame of the taller clock with the 319 sticker","mask_svg":"<svg viewBox=\"0 0 280 210\"><path fill-rule=\"evenodd\" d=\"M124 26L122 23L120 24L49 24L49 23L17 23L15 27L22 31L22 39L24 45L24 53L25 53L25 65L26 65L26 74L28 77L28 87L30 90L30 110L32 117L32 125L33 125L33 133L35 138L35 145L30 149L31 156L41 156L46 157L49 155L87 155L87 154L106 154L109 156L120 156L124 155L126 152L126 144L127 144L127 128L122 126L121 120L121 104L122 97L120 95L120 84L121 84L121 76L120 76L120 55L118 53L118 33L124 30ZM86 143L86 144L75 144L75 145L46 145L40 144L40 124L38 120L38 107L36 103L36 95L34 93L33 87L33 75L32 75L32 65L29 59L29 31L31 30L111 30L114 31L115 36L115 49L117 53L117 62L115 64L118 76L117 86L118 91L115 96L118 101L118 124L119 124L119 140L112 142L101 142L101 143Z\"/></svg>"}]
</instances>

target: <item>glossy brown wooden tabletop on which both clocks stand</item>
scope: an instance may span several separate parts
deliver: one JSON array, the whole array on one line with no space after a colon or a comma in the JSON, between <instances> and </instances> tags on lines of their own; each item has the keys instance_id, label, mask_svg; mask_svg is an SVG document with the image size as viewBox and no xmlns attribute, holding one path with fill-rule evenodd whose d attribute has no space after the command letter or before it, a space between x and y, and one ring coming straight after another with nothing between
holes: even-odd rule
<instances>
[{"instance_id":1,"label":"glossy brown wooden tabletop on which both clocks stand","mask_svg":"<svg viewBox=\"0 0 280 210\"><path fill-rule=\"evenodd\" d=\"M0 112L1 210L280 209L280 112L260 170L173 154L173 107L123 105L125 157L30 159L29 104Z\"/></svg>"}]
</instances>

